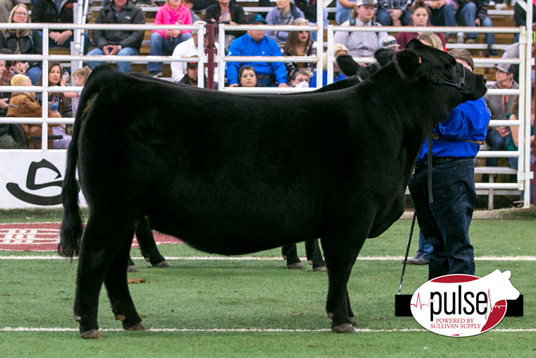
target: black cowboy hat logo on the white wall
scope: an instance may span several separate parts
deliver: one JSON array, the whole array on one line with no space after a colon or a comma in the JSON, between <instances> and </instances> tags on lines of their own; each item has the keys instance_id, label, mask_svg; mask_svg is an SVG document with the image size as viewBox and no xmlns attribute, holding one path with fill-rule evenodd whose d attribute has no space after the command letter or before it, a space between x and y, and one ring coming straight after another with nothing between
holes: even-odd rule
<instances>
[{"instance_id":1,"label":"black cowboy hat logo on the white wall","mask_svg":"<svg viewBox=\"0 0 536 358\"><path fill-rule=\"evenodd\" d=\"M59 169L56 168L56 166L54 166L48 160L42 159L40 162L31 162L30 167L28 167L28 174L26 176L26 188L27 189L32 191L32 190L47 188L49 186L59 186L61 188L63 179L49 181L48 183L43 183L43 184L36 184L35 179L37 177L38 169L49 169L56 173L56 178L54 179L61 178L61 173L59 172ZM20 186L16 183L6 184L6 189L8 189L11 195L15 196L21 201L24 201L25 203L30 203L34 205L61 204L61 191L56 196L39 196L37 194L28 193L27 191L20 189Z\"/></svg>"}]
</instances>

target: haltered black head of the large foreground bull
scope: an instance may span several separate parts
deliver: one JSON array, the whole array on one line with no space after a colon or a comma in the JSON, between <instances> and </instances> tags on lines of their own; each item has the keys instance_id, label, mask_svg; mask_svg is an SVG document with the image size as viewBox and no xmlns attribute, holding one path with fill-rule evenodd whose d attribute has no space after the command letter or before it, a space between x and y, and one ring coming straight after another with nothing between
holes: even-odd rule
<instances>
[{"instance_id":1,"label":"haltered black head of the large foreground bull","mask_svg":"<svg viewBox=\"0 0 536 358\"><path fill-rule=\"evenodd\" d=\"M458 90L462 102L477 100L486 94L486 78L468 71L450 54L427 46L417 39L396 54L401 73L410 81L427 80L434 85Z\"/></svg>"}]
</instances>

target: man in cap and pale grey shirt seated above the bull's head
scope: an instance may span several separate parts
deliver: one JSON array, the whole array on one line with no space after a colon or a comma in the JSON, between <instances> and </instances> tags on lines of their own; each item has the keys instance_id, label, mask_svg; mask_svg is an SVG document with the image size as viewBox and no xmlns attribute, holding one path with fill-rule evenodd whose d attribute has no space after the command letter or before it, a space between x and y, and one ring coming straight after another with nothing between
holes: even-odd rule
<instances>
[{"instance_id":1,"label":"man in cap and pale grey shirt seated above the bull's head","mask_svg":"<svg viewBox=\"0 0 536 358\"><path fill-rule=\"evenodd\" d=\"M346 20L343 26L382 26L374 20L377 0L357 0L352 11L352 18ZM379 29L378 29L379 30ZM379 48L379 39L389 35L385 31L379 32L346 32L337 31L333 42L343 44L348 48L348 53L354 57L374 56L374 51Z\"/></svg>"}]
</instances>

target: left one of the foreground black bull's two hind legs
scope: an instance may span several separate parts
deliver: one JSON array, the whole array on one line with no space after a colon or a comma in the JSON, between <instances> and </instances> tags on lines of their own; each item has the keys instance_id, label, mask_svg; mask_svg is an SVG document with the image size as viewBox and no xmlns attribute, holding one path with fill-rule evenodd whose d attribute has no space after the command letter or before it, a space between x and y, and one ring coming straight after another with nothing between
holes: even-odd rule
<instances>
[{"instance_id":1,"label":"left one of the foreground black bull's two hind legs","mask_svg":"<svg viewBox=\"0 0 536 358\"><path fill-rule=\"evenodd\" d=\"M82 338L101 337L97 312L102 282L128 234L132 235L133 227L133 223L124 219L98 217L95 213L87 221L78 259L74 304L75 321L80 324Z\"/></svg>"}]
</instances>

